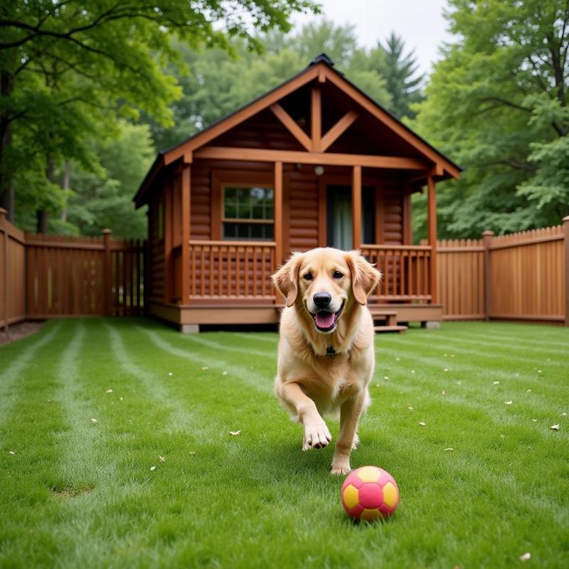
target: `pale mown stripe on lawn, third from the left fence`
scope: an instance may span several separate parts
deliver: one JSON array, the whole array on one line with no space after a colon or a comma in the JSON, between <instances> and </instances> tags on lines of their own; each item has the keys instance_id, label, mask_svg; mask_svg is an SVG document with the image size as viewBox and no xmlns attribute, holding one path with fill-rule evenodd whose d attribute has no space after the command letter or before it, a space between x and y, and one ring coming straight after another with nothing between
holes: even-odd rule
<instances>
[{"instance_id":1,"label":"pale mown stripe on lawn, third from the left fence","mask_svg":"<svg viewBox=\"0 0 569 569\"><path fill-rule=\"evenodd\" d=\"M122 369L147 390L154 405L159 405L169 410L169 417L166 425L164 425L166 432L191 430L196 433L200 425L200 421L196 416L176 400L169 388L161 383L161 378L154 373L149 373L134 361L134 358L130 356L124 346L121 332L110 324L105 324L105 329L110 336L112 353Z\"/></svg>"}]
</instances>

